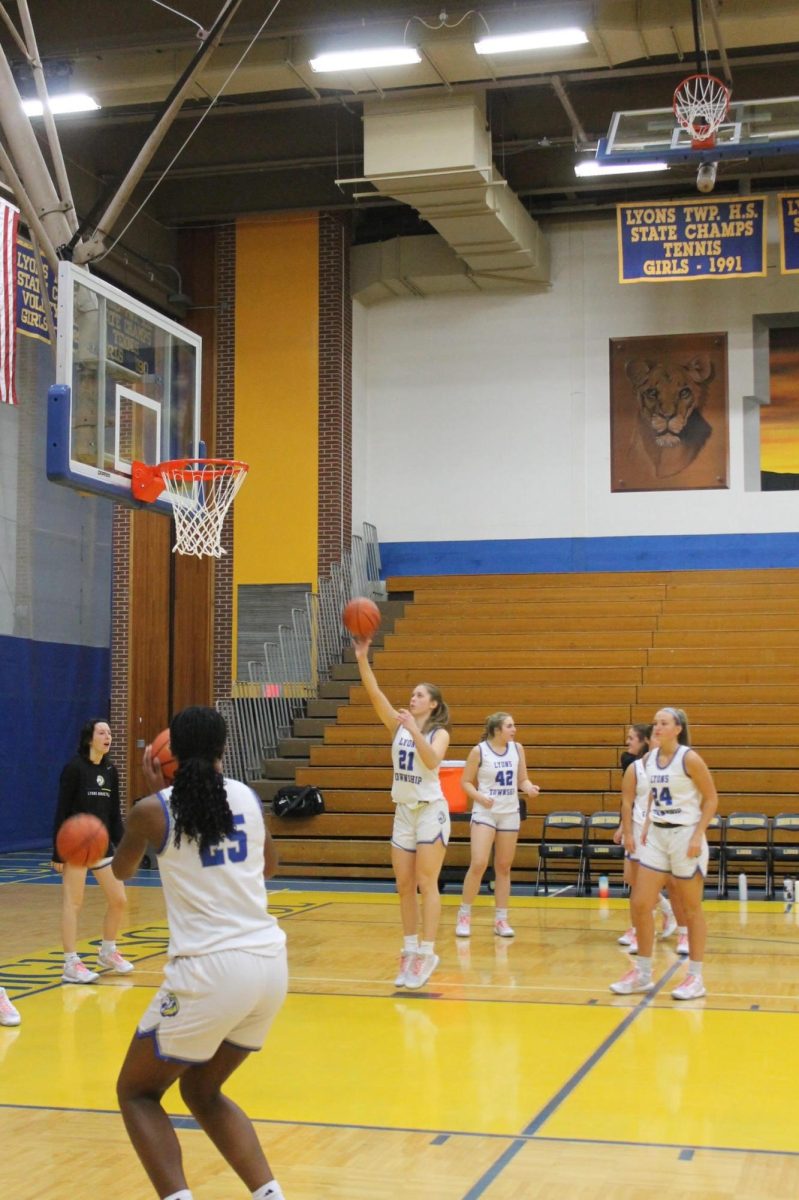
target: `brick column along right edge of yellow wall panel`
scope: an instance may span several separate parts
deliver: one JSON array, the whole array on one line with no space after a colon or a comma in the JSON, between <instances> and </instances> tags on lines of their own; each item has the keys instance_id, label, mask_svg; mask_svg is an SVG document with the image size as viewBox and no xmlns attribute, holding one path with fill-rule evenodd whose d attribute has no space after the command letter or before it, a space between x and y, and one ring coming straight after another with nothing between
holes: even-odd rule
<instances>
[{"instance_id":1,"label":"brick column along right edge of yellow wall panel","mask_svg":"<svg viewBox=\"0 0 799 1200\"><path fill-rule=\"evenodd\" d=\"M319 214L319 575L353 533L353 305L349 216Z\"/></svg>"}]
</instances>

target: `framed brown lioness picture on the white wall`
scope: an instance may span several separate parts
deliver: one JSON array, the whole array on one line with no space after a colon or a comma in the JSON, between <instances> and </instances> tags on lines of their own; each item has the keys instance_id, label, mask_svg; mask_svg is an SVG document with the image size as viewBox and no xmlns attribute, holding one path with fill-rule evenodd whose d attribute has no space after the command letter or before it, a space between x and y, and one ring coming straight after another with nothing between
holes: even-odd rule
<instances>
[{"instance_id":1,"label":"framed brown lioness picture on the white wall","mask_svg":"<svg viewBox=\"0 0 799 1200\"><path fill-rule=\"evenodd\" d=\"M727 335L611 338L611 491L727 487Z\"/></svg>"}]
</instances>

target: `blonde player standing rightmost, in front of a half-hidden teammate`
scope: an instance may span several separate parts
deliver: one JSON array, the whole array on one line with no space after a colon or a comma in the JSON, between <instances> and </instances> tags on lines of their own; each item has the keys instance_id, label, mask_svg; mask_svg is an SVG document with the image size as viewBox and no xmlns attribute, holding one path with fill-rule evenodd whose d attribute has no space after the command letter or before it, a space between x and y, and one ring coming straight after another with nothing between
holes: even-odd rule
<instances>
[{"instance_id":1,"label":"blonde player standing rightmost, in front of a half-hidden teammate","mask_svg":"<svg viewBox=\"0 0 799 1200\"><path fill-rule=\"evenodd\" d=\"M689 744L687 716L681 708L661 708L653 725L655 748L645 758L650 806L641 836L638 875L631 899L638 937L636 966L611 984L618 995L651 991L651 954L655 938L653 908L665 882L685 913L689 936L687 974L672 991L674 1000L705 995L703 960L707 924L702 911L708 870L705 830L719 808L719 797L707 763ZM623 808L624 842L635 846L631 805Z\"/></svg>"}]
</instances>

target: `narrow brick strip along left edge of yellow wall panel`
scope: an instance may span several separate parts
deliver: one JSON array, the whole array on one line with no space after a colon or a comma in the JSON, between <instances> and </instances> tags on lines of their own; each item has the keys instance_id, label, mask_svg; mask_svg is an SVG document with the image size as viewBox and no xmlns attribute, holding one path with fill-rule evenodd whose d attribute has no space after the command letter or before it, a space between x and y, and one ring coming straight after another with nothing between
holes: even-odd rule
<instances>
[{"instance_id":1,"label":"narrow brick strip along left edge of yellow wall panel","mask_svg":"<svg viewBox=\"0 0 799 1200\"><path fill-rule=\"evenodd\" d=\"M236 284L235 226L220 229L216 242L216 428L214 455L233 458L235 410L235 284ZM209 451L210 454L211 451ZM226 553L214 568L214 702L230 695L233 679L233 514L222 530Z\"/></svg>"}]
</instances>

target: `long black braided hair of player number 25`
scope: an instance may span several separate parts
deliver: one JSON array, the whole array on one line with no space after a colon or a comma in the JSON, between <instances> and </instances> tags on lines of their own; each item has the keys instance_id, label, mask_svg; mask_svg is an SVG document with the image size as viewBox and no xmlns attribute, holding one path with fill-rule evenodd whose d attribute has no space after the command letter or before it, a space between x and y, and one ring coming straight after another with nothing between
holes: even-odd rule
<instances>
[{"instance_id":1,"label":"long black braided hair of player number 25","mask_svg":"<svg viewBox=\"0 0 799 1200\"><path fill-rule=\"evenodd\" d=\"M233 834L233 812L217 769L227 736L224 718L215 708L184 708L169 724L172 752L178 760L169 800L175 846L185 834L203 853Z\"/></svg>"}]
</instances>

